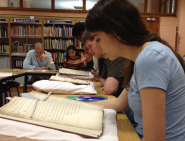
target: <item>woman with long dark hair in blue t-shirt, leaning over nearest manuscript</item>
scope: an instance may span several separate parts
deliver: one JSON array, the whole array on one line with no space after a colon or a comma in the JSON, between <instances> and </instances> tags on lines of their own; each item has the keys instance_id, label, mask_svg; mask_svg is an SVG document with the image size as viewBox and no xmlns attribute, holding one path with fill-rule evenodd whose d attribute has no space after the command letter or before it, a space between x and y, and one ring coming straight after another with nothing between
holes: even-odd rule
<instances>
[{"instance_id":1,"label":"woman with long dark hair in blue t-shirt, leaning over nearest manuscript","mask_svg":"<svg viewBox=\"0 0 185 141\"><path fill-rule=\"evenodd\" d=\"M86 29L110 60L127 59L124 91L97 104L134 112L142 141L185 139L185 64L157 34L147 31L127 0L99 0L89 10Z\"/></svg>"}]
</instances>

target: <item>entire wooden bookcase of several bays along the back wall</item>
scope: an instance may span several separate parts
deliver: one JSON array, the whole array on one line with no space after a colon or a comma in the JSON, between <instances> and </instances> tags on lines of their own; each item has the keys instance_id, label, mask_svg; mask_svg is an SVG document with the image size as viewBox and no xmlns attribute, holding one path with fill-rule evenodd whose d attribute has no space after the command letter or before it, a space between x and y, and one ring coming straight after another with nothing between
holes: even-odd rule
<instances>
[{"instance_id":1,"label":"entire wooden bookcase of several bays along the back wall","mask_svg":"<svg viewBox=\"0 0 185 141\"><path fill-rule=\"evenodd\" d=\"M0 62L1 68L23 68L23 61L36 42L41 42L50 52L56 68L63 66L66 48L75 45L83 51L72 37L75 20L50 20L0 17Z\"/></svg>"}]
</instances>

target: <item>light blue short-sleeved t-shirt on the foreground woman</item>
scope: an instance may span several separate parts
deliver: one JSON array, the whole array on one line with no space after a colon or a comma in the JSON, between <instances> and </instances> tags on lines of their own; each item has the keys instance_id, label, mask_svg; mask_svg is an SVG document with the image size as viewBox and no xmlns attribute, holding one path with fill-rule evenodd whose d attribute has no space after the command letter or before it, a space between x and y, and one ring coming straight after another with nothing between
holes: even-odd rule
<instances>
[{"instance_id":1,"label":"light blue short-sleeved t-shirt on the foreground woman","mask_svg":"<svg viewBox=\"0 0 185 141\"><path fill-rule=\"evenodd\" d=\"M166 91L166 140L185 140L185 74L178 59L167 46L154 41L138 55L128 94L129 106L143 135L140 92L155 87ZM160 109L159 109L160 110Z\"/></svg>"}]
</instances>

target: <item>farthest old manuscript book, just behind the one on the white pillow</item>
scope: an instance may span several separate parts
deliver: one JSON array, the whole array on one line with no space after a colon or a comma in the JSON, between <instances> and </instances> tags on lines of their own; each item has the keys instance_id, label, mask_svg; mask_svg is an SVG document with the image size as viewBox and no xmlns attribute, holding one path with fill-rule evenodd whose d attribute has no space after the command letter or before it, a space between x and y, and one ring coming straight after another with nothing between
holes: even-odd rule
<instances>
[{"instance_id":1,"label":"farthest old manuscript book, just behind the one on the white pillow","mask_svg":"<svg viewBox=\"0 0 185 141\"><path fill-rule=\"evenodd\" d=\"M83 75L83 76L89 76L89 72L86 71L79 71L79 70L72 70L72 69L66 69L62 68L59 70L60 74L67 74L67 75Z\"/></svg>"}]
</instances>

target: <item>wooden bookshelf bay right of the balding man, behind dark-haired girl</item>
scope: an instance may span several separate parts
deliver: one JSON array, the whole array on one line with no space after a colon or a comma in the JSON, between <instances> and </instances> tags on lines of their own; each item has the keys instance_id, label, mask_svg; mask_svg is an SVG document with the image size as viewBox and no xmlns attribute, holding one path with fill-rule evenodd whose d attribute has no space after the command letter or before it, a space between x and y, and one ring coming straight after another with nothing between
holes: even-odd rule
<instances>
[{"instance_id":1,"label":"wooden bookshelf bay right of the balding man, behind dark-haired girl","mask_svg":"<svg viewBox=\"0 0 185 141\"><path fill-rule=\"evenodd\" d=\"M43 20L44 48L52 54L56 69L62 67L67 47L75 45L74 24L75 21L69 20Z\"/></svg>"}]
</instances>

